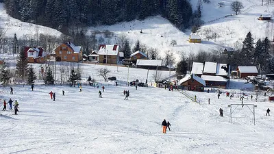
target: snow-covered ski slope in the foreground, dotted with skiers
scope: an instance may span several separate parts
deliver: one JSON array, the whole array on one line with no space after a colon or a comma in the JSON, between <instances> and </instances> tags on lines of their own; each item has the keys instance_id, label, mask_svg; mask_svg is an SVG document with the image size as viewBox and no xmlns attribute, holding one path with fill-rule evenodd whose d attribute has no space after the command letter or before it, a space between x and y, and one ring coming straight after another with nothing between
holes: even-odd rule
<instances>
[{"instance_id":1,"label":"snow-covered ski slope in the foreground, dotted with skiers","mask_svg":"<svg viewBox=\"0 0 274 154\"><path fill-rule=\"evenodd\" d=\"M234 82L234 86L240 85ZM273 153L274 119L265 116L273 103L254 103L256 125L247 107L238 107L229 120L230 103L240 103L216 93L188 92L197 95L195 103L176 90L109 86L101 90L83 86L0 87L0 99L17 100L18 115L1 111L1 153ZM56 100L49 92L56 93ZM62 96L62 90L65 96ZM124 100L123 90L129 90ZM234 90L232 90L234 91ZM238 90L237 90L238 91ZM247 94L249 94L247 92ZM250 94L249 94L250 96ZM208 98L211 99L208 105ZM3 106L1 106L3 107ZM219 108L224 116L219 116ZM171 131L162 133L163 119Z\"/></svg>"}]
</instances>

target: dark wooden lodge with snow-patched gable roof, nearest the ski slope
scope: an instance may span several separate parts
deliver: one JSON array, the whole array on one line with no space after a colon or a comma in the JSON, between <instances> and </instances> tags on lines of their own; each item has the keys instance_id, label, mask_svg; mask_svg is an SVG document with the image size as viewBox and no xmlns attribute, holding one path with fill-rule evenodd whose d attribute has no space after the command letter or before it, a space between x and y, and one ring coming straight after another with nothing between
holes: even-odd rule
<instances>
[{"instance_id":1,"label":"dark wooden lodge with snow-patched gable roof, nearest the ski slope","mask_svg":"<svg viewBox=\"0 0 274 154\"><path fill-rule=\"evenodd\" d=\"M180 79L178 85L182 86L184 90L203 92L206 87L206 81L201 79L201 77L198 77L198 75L192 73Z\"/></svg>"}]
</instances>

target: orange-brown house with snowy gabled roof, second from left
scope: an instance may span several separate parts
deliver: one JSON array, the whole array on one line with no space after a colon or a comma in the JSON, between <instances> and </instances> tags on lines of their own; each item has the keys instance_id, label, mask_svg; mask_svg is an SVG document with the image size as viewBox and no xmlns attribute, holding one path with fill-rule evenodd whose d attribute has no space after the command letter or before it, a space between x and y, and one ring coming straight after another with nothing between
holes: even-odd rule
<instances>
[{"instance_id":1,"label":"orange-brown house with snowy gabled roof, second from left","mask_svg":"<svg viewBox=\"0 0 274 154\"><path fill-rule=\"evenodd\" d=\"M82 47L72 42L62 43L55 50L55 60L61 62L80 62L83 60Z\"/></svg>"}]
</instances>

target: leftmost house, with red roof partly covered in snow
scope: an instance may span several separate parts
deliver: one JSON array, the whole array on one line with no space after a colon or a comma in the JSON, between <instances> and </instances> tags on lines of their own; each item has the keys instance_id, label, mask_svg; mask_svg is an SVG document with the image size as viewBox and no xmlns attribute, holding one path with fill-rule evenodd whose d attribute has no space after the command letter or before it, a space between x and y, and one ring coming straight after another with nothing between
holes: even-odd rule
<instances>
[{"instance_id":1,"label":"leftmost house, with red roof partly covered in snow","mask_svg":"<svg viewBox=\"0 0 274 154\"><path fill-rule=\"evenodd\" d=\"M47 53L41 47L25 47L24 52L28 63L43 64L47 60Z\"/></svg>"}]
</instances>

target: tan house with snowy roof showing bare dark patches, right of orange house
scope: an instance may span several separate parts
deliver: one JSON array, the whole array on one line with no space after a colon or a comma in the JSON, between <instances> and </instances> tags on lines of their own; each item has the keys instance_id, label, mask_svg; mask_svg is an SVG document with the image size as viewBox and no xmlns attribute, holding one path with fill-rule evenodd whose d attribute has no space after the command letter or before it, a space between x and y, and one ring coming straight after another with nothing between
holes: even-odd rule
<instances>
[{"instance_id":1,"label":"tan house with snowy roof showing bare dark patches, right of orange house","mask_svg":"<svg viewBox=\"0 0 274 154\"><path fill-rule=\"evenodd\" d=\"M118 44L100 44L99 45L99 62L104 64L119 63L119 45Z\"/></svg>"}]
</instances>

